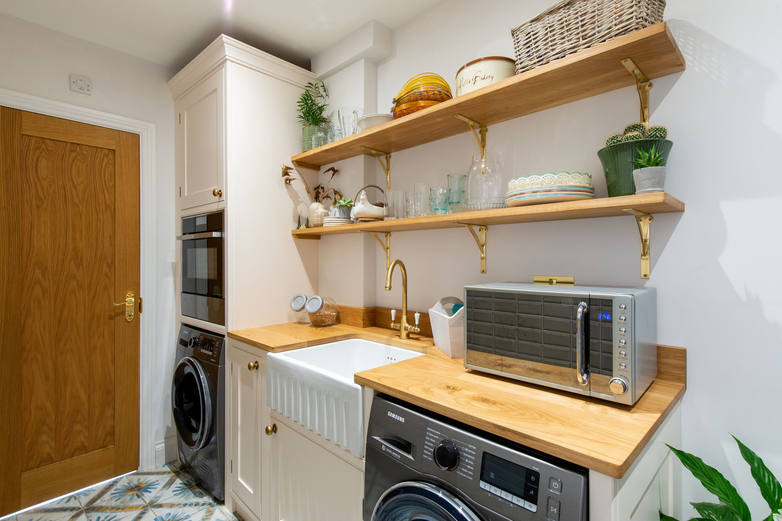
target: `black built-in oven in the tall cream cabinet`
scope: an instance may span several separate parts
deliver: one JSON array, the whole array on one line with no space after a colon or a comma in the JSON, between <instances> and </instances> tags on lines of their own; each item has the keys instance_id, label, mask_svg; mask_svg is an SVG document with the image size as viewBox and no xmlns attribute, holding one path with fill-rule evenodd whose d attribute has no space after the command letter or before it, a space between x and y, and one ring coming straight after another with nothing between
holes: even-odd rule
<instances>
[{"instance_id":1,"label":"black built-in oven in the tall cream cabinet","mask_svg":"<svg viewBox=\"0 0 782 521\"><path fill-rule=\"evenodd\" d=\"M182 218L181 314L225 325L223 212Z\"/></svg>"}]
</instances>

